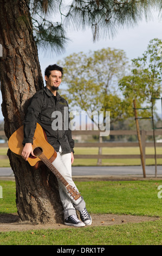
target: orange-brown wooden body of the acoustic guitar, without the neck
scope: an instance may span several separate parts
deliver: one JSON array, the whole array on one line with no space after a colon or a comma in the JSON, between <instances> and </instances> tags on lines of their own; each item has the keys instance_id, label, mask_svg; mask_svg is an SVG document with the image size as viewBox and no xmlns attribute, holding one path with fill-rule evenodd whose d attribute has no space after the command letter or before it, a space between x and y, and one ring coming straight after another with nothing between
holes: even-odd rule
<instances>
[{"instance_id":1,"label":"orange-brown wooden body of the acoustic guitar, without the neck","mask_svg":"<svg viewBox=\"0 0 162 256\"><path fill-rule=\"evenodd\" d=\"M23 126L16 130L9 138L9 149L18 156L21 156L24 147L22 144L23 138ZM44 133L41 125L38 123L33 137L33 151L35 157L29 156L28 162L34 169L37 169L41 164L43 164L38 157L39 154L37 151L40 151L40 153L46 155L50 162L53 162L57 156L55 149L47 142L46 134Z\"/></svg>"}]
</instances>

